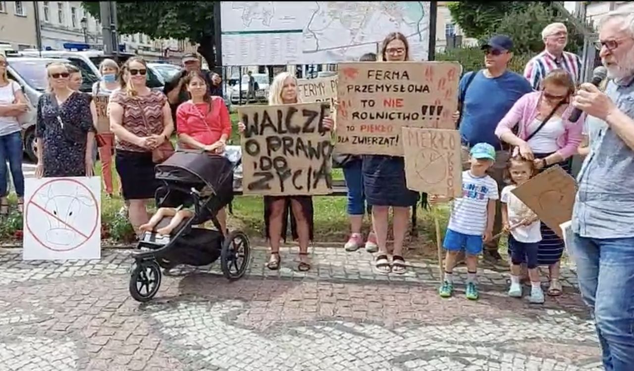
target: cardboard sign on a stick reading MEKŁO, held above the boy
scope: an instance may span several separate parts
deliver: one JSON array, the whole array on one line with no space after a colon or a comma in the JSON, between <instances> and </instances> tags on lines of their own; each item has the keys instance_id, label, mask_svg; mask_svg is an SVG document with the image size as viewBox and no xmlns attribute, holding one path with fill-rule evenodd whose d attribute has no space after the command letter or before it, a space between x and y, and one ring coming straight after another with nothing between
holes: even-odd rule
<instances>
[{"instance_id":1,"label":"cardboard sign on a stick reading MEK\u0141O, held above the boy","mask_svg":"<svg viewBox=\"0 0 634 371\"><path fill-rule=\"evenodd\" d=\"M407 188L430 195L462 197L460 133L403 127Z\"/></svg>"}]
</instances>

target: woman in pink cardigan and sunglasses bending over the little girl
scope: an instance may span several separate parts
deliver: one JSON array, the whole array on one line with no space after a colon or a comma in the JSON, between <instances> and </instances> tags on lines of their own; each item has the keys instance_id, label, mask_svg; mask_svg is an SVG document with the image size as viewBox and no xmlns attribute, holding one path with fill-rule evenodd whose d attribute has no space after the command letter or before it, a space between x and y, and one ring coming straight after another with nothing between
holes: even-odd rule
<instances>
[{"instance_id":1,"label":"woman in pink cardigan and sunglasses bending over the little girl","mask_svg":"<svg viewBox=\"0 0 634 371\"><path fill-rule=\"evenodd\" d=\"M500 121L495 134L522 157L533 160L537 169L559 165L570 172L567 160L577 152L583 129L583 115L576 122L568 119L573 110L569 105L573 94L571 76L562 69L552 70L543 79L542 90L522 96ZM514 134L516 125L519 127ZM548 295L559 296L559 260L564 241L544 223L541 237L538 264L548 265L550 271Z\"/></svg>"}]
</instances>

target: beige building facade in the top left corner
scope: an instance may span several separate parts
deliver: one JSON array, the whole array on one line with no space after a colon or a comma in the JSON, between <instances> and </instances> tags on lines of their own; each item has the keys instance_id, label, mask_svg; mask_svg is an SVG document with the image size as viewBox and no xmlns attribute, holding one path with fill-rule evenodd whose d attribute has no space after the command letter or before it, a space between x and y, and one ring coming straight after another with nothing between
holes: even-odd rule
<instances>
[{"instance_id":1,"label":"beige building facade in the top left corner","mask_svg":"<svg viewBox=\"0 0 634 371\"><path fill-rule=\"evenodd\" d=\"M34 3L34 1L0 1L0 44L5 44L7 49L36 48Z\"/></svg>"}]
</instances>

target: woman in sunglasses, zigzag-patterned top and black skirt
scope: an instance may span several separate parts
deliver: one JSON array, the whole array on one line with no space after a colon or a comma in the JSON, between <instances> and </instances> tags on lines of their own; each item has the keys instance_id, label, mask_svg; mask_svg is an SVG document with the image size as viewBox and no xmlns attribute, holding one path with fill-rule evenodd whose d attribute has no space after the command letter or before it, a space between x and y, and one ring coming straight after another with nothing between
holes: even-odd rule
<instances>
[{"instance_id":1,"label":"woman in sunglasses, zigzag-patterned top and black skirt","mask_svg":"<svg viewBox=\"0 0 634 371\"><path fill-rule=\"evenodd\" d=\"M130 223L136 233L148 223L147 202L154 199L157 181L154 166L171 155L174 130L167 98L146 86L145 60L133 57L121 70L122 87L108 103L110 130L115 135L115 167L123 198L129 202Z\"/></svg>"}]
</instances>

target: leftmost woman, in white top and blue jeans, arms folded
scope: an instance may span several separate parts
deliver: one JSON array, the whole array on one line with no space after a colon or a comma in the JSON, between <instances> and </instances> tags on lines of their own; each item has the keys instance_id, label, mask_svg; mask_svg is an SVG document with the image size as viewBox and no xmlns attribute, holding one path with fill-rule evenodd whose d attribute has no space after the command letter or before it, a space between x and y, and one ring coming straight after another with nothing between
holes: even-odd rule
<instances>
[{"instance_id":1,"label":"leftmost woman, in white top and blue jeans, arms folded","mask_svg":"<svg viewBox=\"0 0 634 371\"><path fill-rule=\"evenodd\" d=\"M22 135L18 117L29 110L22 88L7 76L7 63L0 54L0 216L9 213L6 163L9 162L18 209L24 204L24 174L22 172Z\"/></svg>"}]
</instances>

